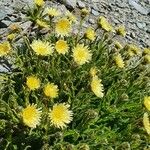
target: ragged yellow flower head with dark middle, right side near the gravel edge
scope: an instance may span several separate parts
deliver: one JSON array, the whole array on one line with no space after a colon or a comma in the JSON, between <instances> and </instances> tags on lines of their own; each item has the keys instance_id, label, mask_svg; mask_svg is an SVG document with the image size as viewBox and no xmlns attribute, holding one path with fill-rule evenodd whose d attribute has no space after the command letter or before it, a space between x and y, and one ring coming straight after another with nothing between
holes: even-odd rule
<instances>
[{"instance_id":1,"label":"ragged yellow flower head with dark middle, right side near the gravel edge","mask_svg":"<svg viewBox=\"0 0 150 150\"><path fill-rule=\"evenodd\" d=\"M141 54L140 48L137 47L137 46L134 45L134 44L129 44L129 45L127 45L126 47L127 47L129 56L134 56L134 55L139 55L139 54Z\"/></svg>"}]
</instances>

